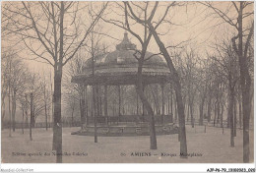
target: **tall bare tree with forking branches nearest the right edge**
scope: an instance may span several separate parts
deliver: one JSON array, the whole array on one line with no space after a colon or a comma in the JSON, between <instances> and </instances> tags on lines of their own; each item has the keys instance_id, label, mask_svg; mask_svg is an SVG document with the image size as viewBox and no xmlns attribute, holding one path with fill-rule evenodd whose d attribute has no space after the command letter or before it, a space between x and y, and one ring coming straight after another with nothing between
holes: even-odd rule
<instances>
[{"instance_id":1,"label":"tall bare tree with forking branches nearest the right edge","mask_svg":"<svg viewBox=\"0 0 256 173\"><path fill-rule=\"evenodd\" d=\"M248 49L251 44L254 22L254 2L226 2L229 3L228 10L217 7L214 2L201 2L211 8L223 21L236 30L232 37L232 48L238 55L240 69L240 85L242 90L243 111L243 162L249 162L249 122L250 122L250 91L251 75L249 73ZM236 41L238 39L238 42Z\"/></svg>"}]
</instances>

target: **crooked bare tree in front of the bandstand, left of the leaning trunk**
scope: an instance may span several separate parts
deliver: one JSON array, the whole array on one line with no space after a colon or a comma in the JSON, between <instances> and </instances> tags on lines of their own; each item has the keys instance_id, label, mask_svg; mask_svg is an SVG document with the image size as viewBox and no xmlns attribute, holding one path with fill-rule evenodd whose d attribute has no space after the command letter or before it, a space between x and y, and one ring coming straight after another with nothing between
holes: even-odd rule
<instances>
[{"instance_id":1,"label":"crooked bare tree in front of the bandstand, left of the leaning trunk","mask_svg":"<svg viewBox=\"0 0 256 173\"><path fill-rule=\"evenodd\" d=\"M148 13L150 10L148 9L149 7L149 2L143 3L144 5L140 8L141 12L138 13L141 14L141 18L143 21L147 20L152 20L152 17L148 16ZM137 49L135 46L128 47L130 50L134 51L134 57L138 60L138 71L137 71L137 84L136 84L136 91L138 95L140 96L140 99L145 106L145 109L147 110L148 116L150 117L150 148L151 149L157 149L157 137L156 137L156 130L155 130L155 117L154 117L154 111L153 108L146 97L144 93L144 86L143 86L143 80L142 80L142 71L143 71L143 64L144 61L147 59L151 58L154 56L154 54L150 57L146 57L147 53L147 48L150 43L152 33L149 31L147 28L146 24L143 24L143 34L140 34L138 30L133 29L133 23L137 22L136 19L134 19L133 16L137 17L132 10L129 8L129 3L128 2L123 2L122 4L117 4L119 8L121 8L124 12L124 22L122 21L116 21L115 19L110 19L110 20L104 20L104 22L112 24L116 27L119 27L121 29L125 29L129 31L133 36L135 36L141 46L141 50ZM138 17L137 17L138 18ZM127 36L127 35L126 35ZM128 37L125 37L125 39L128 39Z\"/></svg>"}]
</instances>

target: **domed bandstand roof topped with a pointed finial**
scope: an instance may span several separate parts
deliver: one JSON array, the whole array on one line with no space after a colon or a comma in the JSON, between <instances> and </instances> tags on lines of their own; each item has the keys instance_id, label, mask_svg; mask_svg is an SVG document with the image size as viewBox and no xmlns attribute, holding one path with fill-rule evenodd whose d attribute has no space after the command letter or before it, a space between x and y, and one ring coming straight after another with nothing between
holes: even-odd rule
<instances>
[{"instance_id":1,"label":"domed bandstand roof topped with a pointed finial","mask_svg":"<svg viewBox=\"0 0 256 173\"><path fill-rule=\"evenodd\" d=\"M137 81L138 60L135 58L136 45L128 39L127 32L116 50L95 57L95 77L93 78L93 59L86 61L82 73L72 78L72 83L86 86L135 85ZM136 54L137 56L139 53ZM169 70L163 57L146 53L143 66L143 83L164 84L168 81Z\"/></svg>"}]
</instances>

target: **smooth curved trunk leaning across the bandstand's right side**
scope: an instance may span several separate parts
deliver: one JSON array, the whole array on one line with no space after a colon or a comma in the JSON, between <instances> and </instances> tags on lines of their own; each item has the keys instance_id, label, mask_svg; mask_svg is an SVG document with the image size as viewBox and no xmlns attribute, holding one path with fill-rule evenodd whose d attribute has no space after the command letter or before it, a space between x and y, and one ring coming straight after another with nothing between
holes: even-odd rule
<instances>
[{"instance_id":1,"label":"smooth curved trunk leaning across the bandstand's right side","mask_svg":"<svg viewBox=\"0 0 256 173\"><path fill-rule=\"evenodd\" d=\"M180 85L180 79L178 77L178 73L176 72L176 69L174 68L174 65L171 61L171 58L164 46L164 44L160 40L160 36L157 33L156 29L152 26L152 24L148 24L151 32L153 33L155 40L157 41L160 52L162 53L163 57L165 58L169 71L171 73L171 78L174 82L174 89L176 92L176 101L177 101L177 107L178 107L178 115L179 115L179 128L180 128L180 156L187 158L187 141L186 141L186 128L185 128L185 114L184 114L184 105L182 100L182 94L181 94L181 85Z\"/></svg>"}]
</instances>

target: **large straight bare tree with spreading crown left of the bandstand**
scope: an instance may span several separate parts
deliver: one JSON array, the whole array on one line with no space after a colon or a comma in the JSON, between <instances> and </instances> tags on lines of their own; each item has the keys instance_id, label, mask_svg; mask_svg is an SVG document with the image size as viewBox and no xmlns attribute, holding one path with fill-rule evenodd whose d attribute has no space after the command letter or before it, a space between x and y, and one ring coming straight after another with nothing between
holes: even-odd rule
<instances>
[{"instance_id":1,"label":"large straight bare tree with spreading crown left of the bandstand","mask_svg":"<svg viewBox=\"0 0 256 173\"><path fill-rule=\"evenodd\" d=\"M54 125L53 149L56 162L62 162L61 81L62 70L85 43L106 8L103 4L93 21L81 25L81 8L78 2L8 2L3 14L12 26L10 32L20 35L24 44L35 56L34 60L47 63L54 69ZM89 3L85 3L86 6ZM88 13L87 13L88 14ZM89 13L93 15L92 13ZM84 29L82 29L82 27Z\"/></svg>"}]
</instances>

